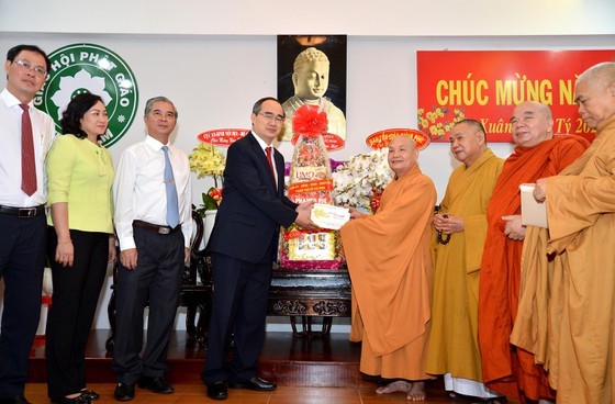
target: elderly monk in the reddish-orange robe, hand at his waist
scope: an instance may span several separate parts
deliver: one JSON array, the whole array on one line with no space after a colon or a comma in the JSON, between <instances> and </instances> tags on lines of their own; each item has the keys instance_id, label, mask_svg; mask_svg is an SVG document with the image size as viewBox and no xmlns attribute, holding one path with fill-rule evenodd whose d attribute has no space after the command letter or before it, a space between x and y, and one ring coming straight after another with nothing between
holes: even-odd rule
<instances>
[{"instance_id":1,"label":"elderly monk in the reddish-orange robe, hand at his waist","mask_svg":"<svg viewBox=\"0 0 615 404\"><path fill-rule=\"evenodd\" d=\"M555 176L588 148L574 135L554 136L551 111L527 101L511 117L514 153L504 168L487 207L487 243L479 285L479 344L483 381L508 396L527 400L555 397L545 370L530 352L510 343L517 315L521 256L525 227L521 224L519 184Z\"/></svg>"}]
</instances>

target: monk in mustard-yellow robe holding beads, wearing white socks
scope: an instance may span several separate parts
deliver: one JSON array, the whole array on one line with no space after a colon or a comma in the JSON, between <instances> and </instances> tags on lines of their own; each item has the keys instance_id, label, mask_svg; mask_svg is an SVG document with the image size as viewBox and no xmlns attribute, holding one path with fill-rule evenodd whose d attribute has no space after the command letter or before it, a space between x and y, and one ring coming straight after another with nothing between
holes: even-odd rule
<instances>
[{"instance_id":1,"label":"monk in mustard-yellow robe holding beads, wearing white socks","mask_svg":"<svg viewBox=\"0 0 615 404\"><path fill-rule=\"evenodd\" d=\"M448 181L434 217L434 299L427 373L444 374L451 397L497 400L482 383L478 341L479 277L487 205L503 160L487 147L482 124L463 120L450 131L450 152L462 165Z\"/></svg>"}]
</instances>

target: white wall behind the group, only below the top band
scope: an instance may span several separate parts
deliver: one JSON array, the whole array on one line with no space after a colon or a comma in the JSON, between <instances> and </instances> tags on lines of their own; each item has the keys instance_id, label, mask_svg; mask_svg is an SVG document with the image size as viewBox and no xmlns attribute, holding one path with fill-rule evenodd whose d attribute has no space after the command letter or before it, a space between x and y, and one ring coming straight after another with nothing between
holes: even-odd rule
<instances>
[{"instance_id":1,"label":"white wall behind the group, only below the top band","mask_svg":"<svg viewBox=\"0 0 615 404\"><path fill-rule=\"evenodd\" d=\"M2 34L0 52L16 43L35 43L52 52L87 42L111 48L132 67L139 88L139 114L145 100L165 94L179 110L176 145L190 153L200 132L220 127L249 127L253 102L276 94L275 36L150 36L101 34ZM348 38L348 139L331 157L343 160L367 152L365 137L387 127L416 126L416 50L425 49L580 49L612 48L614 35L528 37L371 37ZM5 78L0 75L0 87ZM144 136L141 116L111 152L121 152ZM510 145L492 144L505 156ZM280 149L287 159L290 144ZM422 153L421 166L436 182L439 198L455 164L445 144ZM193 181L194 201L205 188Z\"/></svg>"}]
</instances>

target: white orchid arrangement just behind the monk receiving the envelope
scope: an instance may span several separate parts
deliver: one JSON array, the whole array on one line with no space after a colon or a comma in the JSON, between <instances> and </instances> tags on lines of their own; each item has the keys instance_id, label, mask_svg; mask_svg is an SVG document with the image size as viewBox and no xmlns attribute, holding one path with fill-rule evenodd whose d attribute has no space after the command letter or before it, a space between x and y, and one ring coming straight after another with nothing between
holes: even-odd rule
<instances>
[{"instance_id":1,"label":"white orchid arrangement just behind the monk receiving the envelope","mask_svg":"<svg viewBox=\"0 0 615 404\"><path fill-rule=\"evenodd\" d=\"M333 172L335 204L370 211L374 192L381 193L393 179L389 168L389 149L381 148L353 156Z\"/></svg>"}]
</instances>

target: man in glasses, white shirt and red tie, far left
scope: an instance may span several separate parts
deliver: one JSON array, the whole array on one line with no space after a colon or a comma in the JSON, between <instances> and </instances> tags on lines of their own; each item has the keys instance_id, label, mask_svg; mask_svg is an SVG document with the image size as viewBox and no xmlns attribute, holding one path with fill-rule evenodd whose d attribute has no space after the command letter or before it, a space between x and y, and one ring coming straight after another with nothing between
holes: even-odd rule
<instances>
[{"instance_id":1,"label":"man in glasses, white shirt and red tie, far left","mask_svg":"<svg viewBox=\"0 0 615 404\"><path fill-rule=\"evenodd\" d=\"M34 45L7 54L7 88L0 93L0 278L4 280L0 330L0 404L27 403L27 358L41 314L45 266L45 155L54 121L34 108L49 68Z\"/></svg>"}]
</instances>

